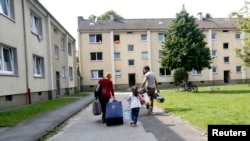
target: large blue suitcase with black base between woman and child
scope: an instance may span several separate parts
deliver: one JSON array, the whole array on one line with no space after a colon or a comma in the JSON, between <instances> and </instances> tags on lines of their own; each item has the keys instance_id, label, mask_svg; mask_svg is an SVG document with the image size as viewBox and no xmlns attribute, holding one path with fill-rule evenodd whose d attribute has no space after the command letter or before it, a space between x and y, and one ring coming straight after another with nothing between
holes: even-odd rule
<instances>
[{"instance_id":1,"label":"large blue suitcase with black base between woman and child","mask_svg":"<svg viewBox=\"0 0 250 141\"><path fill-rule=\"evenodd\" d=\"M123 108L121 101L107 103L105 120L107 126L123 124Z\"/></svg>"}]
</instances>

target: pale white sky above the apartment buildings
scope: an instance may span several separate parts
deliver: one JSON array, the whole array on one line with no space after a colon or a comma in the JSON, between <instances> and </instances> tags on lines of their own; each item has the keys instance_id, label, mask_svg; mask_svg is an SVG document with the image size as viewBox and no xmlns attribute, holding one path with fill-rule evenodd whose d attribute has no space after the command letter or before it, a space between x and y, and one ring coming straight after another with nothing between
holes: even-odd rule
<instances>
[{"instance_id":1,"label":"pale white sky above the apartment buildings","mask_svg":"<svg viewBox=\"0 0 250 141\"><path fill-rule=\"evenodd\" d=\"M58 22L77 40L77 17L88 19L114 10L124 19L175 18L182 6L197 17L210 13L213 18L227 18L239 11L245 0L39 0ZM249 1L249 0L248 0ZM76 43L77 45L77 43Z\"/></svg>"}]
</instances>

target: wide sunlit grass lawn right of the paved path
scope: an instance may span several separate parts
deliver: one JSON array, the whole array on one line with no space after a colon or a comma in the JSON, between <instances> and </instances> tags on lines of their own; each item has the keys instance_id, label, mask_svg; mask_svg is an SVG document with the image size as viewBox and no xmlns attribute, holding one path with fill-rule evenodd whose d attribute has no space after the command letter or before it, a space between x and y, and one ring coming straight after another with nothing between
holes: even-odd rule
<instances>
[{"instance_id":1,"label":"wide sunlit grass lawn right of the paved path","mask_svg":"<svg viewBox=\"0 0 250 141\"><path fill-rule=\"evenodd\" d=\"M199 87L197 93L162 90L164 103L157 105L207 131L210 124L250 124L250 87L247 84L218 86L211 91Z\"/></svg>"}]
</instances>

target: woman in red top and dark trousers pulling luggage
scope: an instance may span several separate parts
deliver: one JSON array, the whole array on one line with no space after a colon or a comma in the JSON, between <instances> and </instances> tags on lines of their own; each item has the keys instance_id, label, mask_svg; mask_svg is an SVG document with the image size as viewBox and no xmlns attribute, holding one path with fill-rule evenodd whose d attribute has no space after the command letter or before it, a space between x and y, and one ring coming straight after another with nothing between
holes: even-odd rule
<instances>
[{"instance_id":1,"label":"woman in red top and dark trousers pulling luggage","mask_svg":"<svg viewBox=\"0 0 250 141\"><path fill-rule=\"evenodd\" d=\"M102 107L102 123L105 123L105 114L106 114L106 104L109 102L109 99L112 97L115 100L113 82L111 80L112 75L110 72L106 74L105 78L99 80L98 83L101 84L102 92L101 95L98 96L98 99L101 103Z\"/></svg>"}]
</instances>

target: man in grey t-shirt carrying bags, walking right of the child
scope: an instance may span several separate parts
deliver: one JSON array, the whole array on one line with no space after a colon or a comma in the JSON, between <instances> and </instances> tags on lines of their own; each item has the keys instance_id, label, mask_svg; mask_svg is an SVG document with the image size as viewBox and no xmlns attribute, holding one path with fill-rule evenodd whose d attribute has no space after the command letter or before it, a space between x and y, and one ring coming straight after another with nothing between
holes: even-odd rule
<instances>
[{"instance_id":1,"label":"man in grey t-shirt carrying bags, walking right of the child","mask_svg":"<svg viewBox=\"0 0 250 141\"><path fill-rule=\"evenodd\" d=\"M145 66L143 68L143 74L145 75L145 78L141 84L141 89L146 86L146 90L149 96L149 104L147 104L148 114L153 112L153 106L154 106L154 94L155 91L159 92L158 89L158 82L155 78L155 74L150 71L149 66Z\"/></svg>"}]
</instances>

